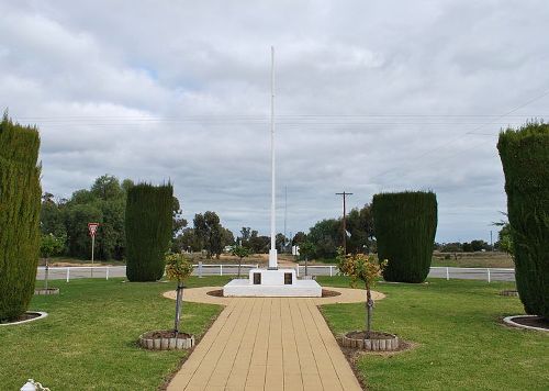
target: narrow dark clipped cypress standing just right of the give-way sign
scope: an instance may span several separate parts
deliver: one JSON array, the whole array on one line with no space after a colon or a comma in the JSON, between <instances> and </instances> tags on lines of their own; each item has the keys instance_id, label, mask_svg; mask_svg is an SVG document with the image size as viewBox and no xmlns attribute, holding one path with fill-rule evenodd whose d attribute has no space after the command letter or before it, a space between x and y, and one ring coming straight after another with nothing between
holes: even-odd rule
<instances>
[{"instance_id":1,"label":"narrow dark clipped cypress standing just right of the give-way sign","mask_svg":"<svg viewBox=\"0 0 549 391\"><path fill-rule=\"evenodd\" d=\"M126 200L126 277L156 281L164 275L165 253L171 238L173 188L136 185Z\"/></svg>"}]
</instances>

